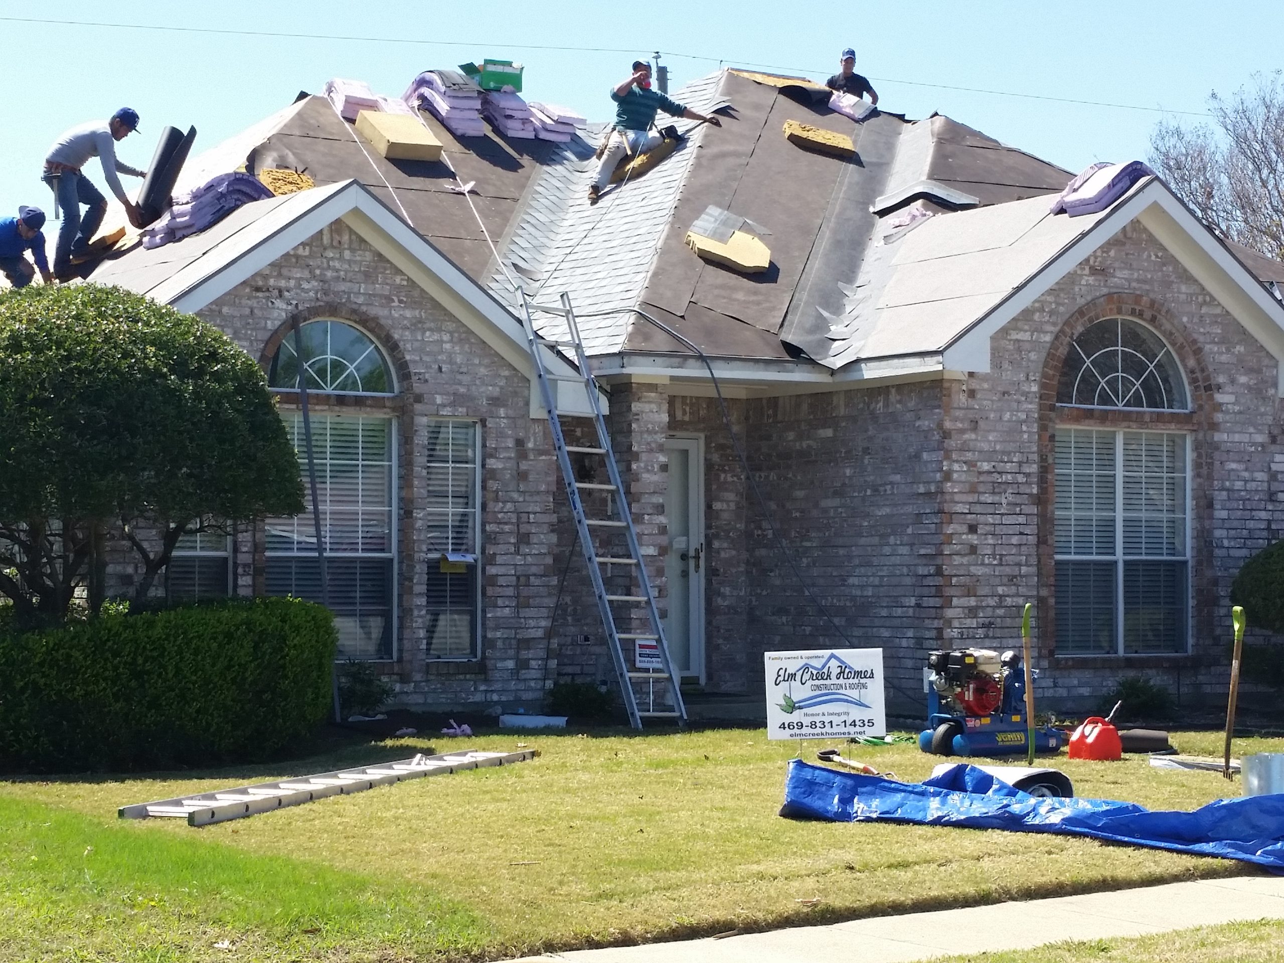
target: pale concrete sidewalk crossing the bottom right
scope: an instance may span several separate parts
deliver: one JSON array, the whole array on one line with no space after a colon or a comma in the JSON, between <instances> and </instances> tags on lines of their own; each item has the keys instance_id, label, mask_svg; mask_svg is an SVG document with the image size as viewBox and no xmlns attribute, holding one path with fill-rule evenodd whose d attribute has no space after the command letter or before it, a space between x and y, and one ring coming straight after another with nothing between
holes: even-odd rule
<instances>
[{"instance_id":1,"label":"pale concrete sidewalk crossing the bottom right","mask_svg":"<svg viewBox=\"0 0 1284 963\"><path fill-rule=\"evenodd\" d=\"M1238 876L1085 896L998 903L939 913L854 919L720 940L656 942L525 957L520 963L908 963L955 953L993 953L1062 940L1284 919L1284 877Z\"/></svg>"}]
</instances>

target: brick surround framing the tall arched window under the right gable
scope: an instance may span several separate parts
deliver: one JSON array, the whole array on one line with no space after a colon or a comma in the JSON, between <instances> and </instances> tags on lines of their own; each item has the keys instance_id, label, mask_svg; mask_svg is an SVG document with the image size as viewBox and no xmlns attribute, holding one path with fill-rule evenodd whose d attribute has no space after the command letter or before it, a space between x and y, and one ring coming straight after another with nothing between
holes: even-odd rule
<instances>
[{"instance_id":1,"label":"brick surround framing the tall arched window under the right gable","mask_svg":"<svg viewBox=\"0 0 1284 963\"><path fill-rule=\"evenodd\" d=\"M1139 321L1158 334L1181 366L1190 393L1190 411L1134 411L1085 410L1057 407L1057 388L1061 370L1075 339L1098 321L1124 317ZM1039 583L1044 587L1039 598L1039 633L1045 656L1055 656L1055 550L1053 543L1055 505L1055 478L1053 465L1053 433L1058 424L1076 428L1152 429L1185 431L1192 435L1192 492L1190 492L1190 606L1193 656L1208 655L1201 651L1199 638L1211 638L1212 614L1216 607L1213 580L1212 539L1210 537L1213 510L1213 465L1211 456L1213 428L1220 404L1216 384L1203 348L1174 318L1165 304L1144 294L1112 293L1082 304L1062 324L1048 347L1039 383ZM1195 660L1198 661L1198 659ZM1076 656L1066 665L1084 668L1165 668L1190 666L1188 656Z\"/></svg>"}]
</instances>

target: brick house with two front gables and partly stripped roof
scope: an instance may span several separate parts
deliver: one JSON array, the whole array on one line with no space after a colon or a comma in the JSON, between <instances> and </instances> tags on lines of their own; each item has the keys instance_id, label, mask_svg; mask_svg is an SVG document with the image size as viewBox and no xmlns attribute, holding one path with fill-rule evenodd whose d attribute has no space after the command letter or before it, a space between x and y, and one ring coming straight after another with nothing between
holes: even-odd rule
<instances>
[{"instance_id":1,"label":"brick house with two front gables and partly stripped roof","mask_svg":"<svg viewBox=\"0 0 1284 963\"><path fill-rule=\"evenodd\" d=\"M679 123L670 158L591 205L601 130L457 140L425 114L452 167L386 162L306 98L185 177L257 158L324 186L92 275L227 331L295 434L299 324L344 655L408 705L534 706L610 677L520 282L582 318L693 686L755 693L764 651L881 646L914 713L927 650L1009 647L1034 601L1045 700L1125 675L1219 693L1230 582L1284 535L1284 265L1156 178L1052 214L1070 172L945 117L858 125L736 71L677 99L723 128ZM710 207L759 231L767 272L687 247ZM169 591L316 596L311 526L194 539Z\"/></svg>"}]
</instances>

